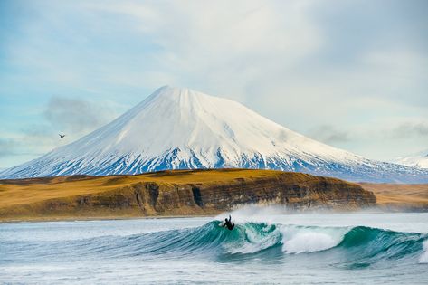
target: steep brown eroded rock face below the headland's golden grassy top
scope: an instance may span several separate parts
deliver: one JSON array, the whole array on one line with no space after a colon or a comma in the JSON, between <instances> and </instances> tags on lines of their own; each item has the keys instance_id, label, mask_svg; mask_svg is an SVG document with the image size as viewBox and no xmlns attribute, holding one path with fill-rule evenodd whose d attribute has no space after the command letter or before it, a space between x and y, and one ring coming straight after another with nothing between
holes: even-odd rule
<instances>
[{"instance_id":1,"label":"steep brown eroded rock face below the headland's golden grassy top","mask_svg":"<svg viewBox=\"0 0 428 285\"><path fill-rule=\"evenodd\" d=\"M110 192L76 197L62 208L113 210L146 215L213 214L244 204L283 204L290 209L357 209L374 206L376 196L361 186L345 181L306 176L296 181L289 174L214 184L163 185L139 182Z\"/></svg>"}]
</instances>

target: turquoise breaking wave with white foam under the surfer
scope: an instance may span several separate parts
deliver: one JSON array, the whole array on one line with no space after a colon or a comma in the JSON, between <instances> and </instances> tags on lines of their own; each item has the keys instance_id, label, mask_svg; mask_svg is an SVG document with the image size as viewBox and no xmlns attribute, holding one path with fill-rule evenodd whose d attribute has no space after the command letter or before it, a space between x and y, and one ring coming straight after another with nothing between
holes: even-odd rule
<instances>
[{"instance_id":1,"label":"turquoise breaking wave with white foam under the surfer","mask_svg":"<svg viewBox=\"0 0 428 285\"><path fill-rule=\"evenodd\" d=\"M42 248L43 259L61 256ZM31 246L31 245L28 245ZM414 259L428 262L428 234L402 233L366 226L319 227L281 223L237 223L233 231L220 221L195 228L128 236L102 236L61 243L62 251L76 256L100 254L106 258L136 257L145 260L215 258L222 261L262 258L278 261L292 256L319 255L334 264L366 267L379 261Z\"/></svg>"}]
</instances>

